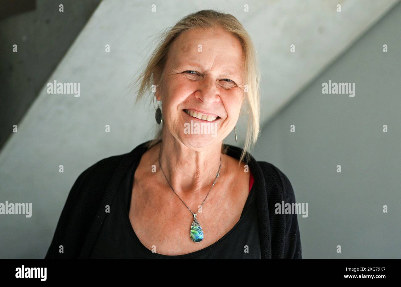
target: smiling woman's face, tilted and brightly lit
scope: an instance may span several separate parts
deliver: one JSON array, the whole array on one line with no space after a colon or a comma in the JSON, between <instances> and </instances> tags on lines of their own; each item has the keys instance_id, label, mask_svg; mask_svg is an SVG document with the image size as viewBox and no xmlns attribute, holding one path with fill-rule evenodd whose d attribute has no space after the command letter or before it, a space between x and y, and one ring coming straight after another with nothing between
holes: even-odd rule
<instances>
[{"instance_id":1,"label":"smiling woman's face, tilted and brightly lit","mask_svg":"<svg viewBox=\"0 0 401 287\"><path fill-rule=\"evenodd\" d=\"M163 101L164 128L190 148L221 142L239 117L242 69L241 43L231 34L220 28L182 33L170 47L156 91Z\"/></svg>"}]
</instances>

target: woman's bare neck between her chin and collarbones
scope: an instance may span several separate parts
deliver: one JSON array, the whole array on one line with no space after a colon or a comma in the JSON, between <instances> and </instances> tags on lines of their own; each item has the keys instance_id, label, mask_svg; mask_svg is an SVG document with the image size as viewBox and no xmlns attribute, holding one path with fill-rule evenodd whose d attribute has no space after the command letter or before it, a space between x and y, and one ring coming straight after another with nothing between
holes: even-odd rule
<instances>
[{"instance_id":1,"label":"woman's bare neck between her chin and collarbones","mask_svg":"<svg viewBox=\"0 0 401 287\"><path fill-rule=\"evenodd\" d=\"M205 148L188 148L170 133L163 134L158 150L162 171L176 193L204 193L212 187L223 156L219 142ZM162 177L164 178L162 172ZM163 179L166 181L166 179ZM168 185L166 181L166 185ZM207 191L206 191L207 190Z\"/></svg>"}]
</instances>

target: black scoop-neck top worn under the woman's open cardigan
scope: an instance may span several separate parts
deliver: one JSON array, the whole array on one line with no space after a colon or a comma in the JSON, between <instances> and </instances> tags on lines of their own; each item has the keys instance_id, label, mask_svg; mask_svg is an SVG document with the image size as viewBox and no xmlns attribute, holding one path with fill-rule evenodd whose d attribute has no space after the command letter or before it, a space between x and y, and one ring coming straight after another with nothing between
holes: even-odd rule
<instances>
[{"instance_id":1,"label":"black scoop-neck top worn under the woman's open cardigan","mask_svg":"<svg viewBox=\"0 0 401 287\"><path fill-rule=\"evenodd\" d=\"M110 212L105 217L92 249L91 259L261 258L254 185L251 187L239 221L217 242L201 250L182 255L158 254L146 248L136 236L128 216L134 174L139 161L140 159L128 169L117 188Z\"/></svg>"}]
</instances>

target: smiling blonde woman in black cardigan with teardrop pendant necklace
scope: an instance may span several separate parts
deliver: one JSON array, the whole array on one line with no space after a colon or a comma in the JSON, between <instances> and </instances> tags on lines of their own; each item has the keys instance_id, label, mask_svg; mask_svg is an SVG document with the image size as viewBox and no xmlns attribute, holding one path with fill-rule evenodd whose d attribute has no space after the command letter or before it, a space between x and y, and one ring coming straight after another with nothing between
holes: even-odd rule
<instances>
[{"instance_id":1,"label":"smiling blonde woman in black cardigan with teardrop pendant necklace","mask_svg":"<svg viewBox=\"0 0 401 287\"><path fill-rule=\"evenodd\" d=\"M259 134L255 48L238 20L190 14L156 47L137 101L153 88L160 130L75 182L46 258L301 259L290 181L247 152ZM223 144L247 108L243 149ZM194 126L203 125L206 132Z\"/></svg>"}]
</instances>

